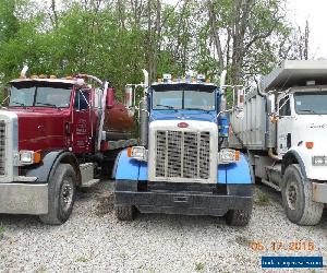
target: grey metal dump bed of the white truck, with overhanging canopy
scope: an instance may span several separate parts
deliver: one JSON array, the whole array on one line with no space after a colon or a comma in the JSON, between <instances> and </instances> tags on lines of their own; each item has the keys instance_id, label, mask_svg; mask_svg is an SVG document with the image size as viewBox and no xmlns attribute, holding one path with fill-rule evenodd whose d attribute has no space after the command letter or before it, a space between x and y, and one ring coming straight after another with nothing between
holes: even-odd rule
<instances>
[{"instance_id":1,"label":"grey metal dump bed of the white truck, with overhanging canopy","mask_svg":"<svg viewBox=\"0 0 327 273\"><path fill-rule=\"evenodd\" d=\"M308 81L312 81L311 85L327 84L327 60L286 60L279 68L263 76L259 87L264 95L253 88L245 95L243 117L240 117L238 109L230 114L229 146L263 151L276 147L276 123L270 122L265 95L269 92L269 96L275 97L290 87L306 86Z\"/></svg>"}]
</instances>

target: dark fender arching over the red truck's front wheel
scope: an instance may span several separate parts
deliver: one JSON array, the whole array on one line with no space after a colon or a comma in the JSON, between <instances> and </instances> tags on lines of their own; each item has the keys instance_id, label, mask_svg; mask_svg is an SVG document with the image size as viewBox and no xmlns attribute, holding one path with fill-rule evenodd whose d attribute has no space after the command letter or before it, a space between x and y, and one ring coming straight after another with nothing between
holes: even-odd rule
<instances>
[{"instance_id":1,"label":"dark fender arching over the red truck's front wheel","mask_svg":"<svg viewBox=\"0 0 327 273\"><path fill-rule=\"evenodd\" d=\"M51 151L43 155L40 164L28 166L25 169L25 176L37 177L36 183L47 183L53 176L55 170L60 163L71 164L74 167L77 177L77 186L81 185L78 161L74 154L65 150Z\"/></svg>"}]
</instances>

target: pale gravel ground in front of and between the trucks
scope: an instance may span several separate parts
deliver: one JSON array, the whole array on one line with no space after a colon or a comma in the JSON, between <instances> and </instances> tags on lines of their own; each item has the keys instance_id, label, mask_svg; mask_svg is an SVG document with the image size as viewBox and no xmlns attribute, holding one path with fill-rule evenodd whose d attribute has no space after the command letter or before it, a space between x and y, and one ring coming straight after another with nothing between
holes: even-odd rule
<instances>
[{"instance_id":1,"label":"pale gravel ground in front of and between the trucks","mask_svg":"<svg viewBox=\"0 0 327 273\"><path fill-rule=\"evenodd\" d=\"M327 213L318 226L296 226L287 219L280 195L266 187L256 189L245 228L229 227L223 218L179 215L118 222L111 187L101 182L80 192L62 226L0 215L0 272L258 272L262 256L323 256L327 263ZM315 250L269 250L275 241L284 247L312 241ZM252 242L266 250L253 250Z\"/></svg>"}]
</instances>

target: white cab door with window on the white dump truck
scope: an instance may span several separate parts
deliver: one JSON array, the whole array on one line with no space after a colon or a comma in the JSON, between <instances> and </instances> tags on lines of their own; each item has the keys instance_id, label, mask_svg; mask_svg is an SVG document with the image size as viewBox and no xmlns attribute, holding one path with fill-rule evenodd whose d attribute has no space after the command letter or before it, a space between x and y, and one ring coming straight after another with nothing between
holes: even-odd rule
<instances>
[{"instance_id":1,"label":"white cab door with window on the white dump truck","mask_svg":"<svg viewBox=\"0 0 327 273\"><path fill-rule=\"evenodd\" d=\"M279 117L277 126L278 155L284 155L292 146L292 116L290 96L281 98L278 103Z\"/></svg>"}]
</instances>

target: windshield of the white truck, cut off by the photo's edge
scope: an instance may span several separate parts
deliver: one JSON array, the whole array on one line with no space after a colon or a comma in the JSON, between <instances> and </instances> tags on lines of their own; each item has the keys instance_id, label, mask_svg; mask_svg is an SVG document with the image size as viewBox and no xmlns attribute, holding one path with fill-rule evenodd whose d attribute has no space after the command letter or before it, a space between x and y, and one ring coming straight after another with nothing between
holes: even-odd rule
<instances>
[{"instance_id":1,"label":"windshield of the white truck, cut off by the photo's edge","mask_svg":"<svg viewBox=\"0 0 327 273\"><path fill-rule=\"evenodd\" d=\"M299 115L327 115L327 91L295 93L295 111Z\"/></svg>"}]
</instances>

